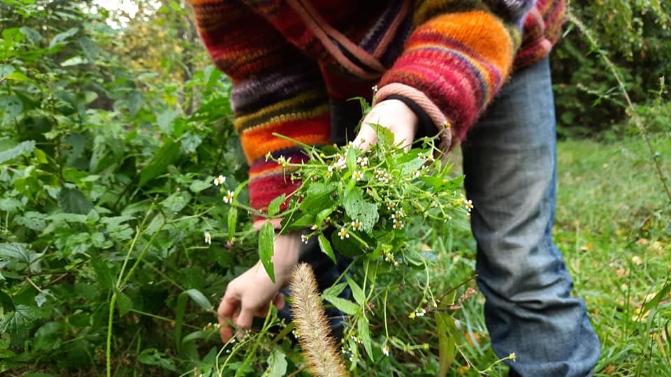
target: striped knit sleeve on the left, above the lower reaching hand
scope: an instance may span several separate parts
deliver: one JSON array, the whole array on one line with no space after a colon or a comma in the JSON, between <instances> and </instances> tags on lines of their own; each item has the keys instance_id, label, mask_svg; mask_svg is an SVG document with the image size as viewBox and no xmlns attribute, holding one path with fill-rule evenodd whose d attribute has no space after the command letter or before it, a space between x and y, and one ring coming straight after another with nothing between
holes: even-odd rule
<instances>
[{"instance_id":1,"label":"striped knit sleeve on the left, above the lower reaching hand","mask_svg":"<svg viewBox=\"0 0 671 377\"><path fill-rule=\"evenodd\" d=\"M319 67L264 19L238 1L189 0L201 39L219 70L231 77L233 126L250 165L250 206L266 211L301 184L266 155L305 160L298 146L325 145L331 132L328 98ZM257 217L255 223L263 221Z\"/></svg>"}]
</instances>

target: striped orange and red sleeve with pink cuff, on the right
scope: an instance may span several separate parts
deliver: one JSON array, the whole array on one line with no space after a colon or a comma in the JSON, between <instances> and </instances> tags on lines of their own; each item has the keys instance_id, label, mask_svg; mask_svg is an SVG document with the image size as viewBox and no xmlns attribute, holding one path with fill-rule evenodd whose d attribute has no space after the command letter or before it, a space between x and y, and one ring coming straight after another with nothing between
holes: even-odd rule
<instances>
[{"instance_id":1,"label":"striped orange and red sleeve with pink cuff, on the right","mask_svg":"<svg viewBox=\"0 0 671 377\"><path fill-rule=\"evenodd\" d=\"M376 102L402 96L431 118L446 149L463 140L510 75L534 0L418 1L415 28Z\"/></svg>"}]
</instances>

